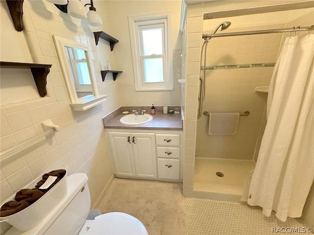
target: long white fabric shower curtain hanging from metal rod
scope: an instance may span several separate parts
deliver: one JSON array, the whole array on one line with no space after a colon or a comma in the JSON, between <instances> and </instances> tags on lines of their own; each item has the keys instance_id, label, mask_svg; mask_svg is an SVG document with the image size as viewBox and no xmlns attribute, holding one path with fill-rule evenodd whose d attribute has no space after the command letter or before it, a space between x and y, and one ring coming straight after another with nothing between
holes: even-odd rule
<instances>
[{"instance_id":1,"label":"long white fabric shower curtain hanging from metal rod","mask_svg":"<svg viewBox=\"0 0 314 235\"><path fill-rule=\"evenodd\" d=\"M248 204L300 217L314 180L314 34L288 37L268 94L269 115Z\"/></svg>"}]
</instances>

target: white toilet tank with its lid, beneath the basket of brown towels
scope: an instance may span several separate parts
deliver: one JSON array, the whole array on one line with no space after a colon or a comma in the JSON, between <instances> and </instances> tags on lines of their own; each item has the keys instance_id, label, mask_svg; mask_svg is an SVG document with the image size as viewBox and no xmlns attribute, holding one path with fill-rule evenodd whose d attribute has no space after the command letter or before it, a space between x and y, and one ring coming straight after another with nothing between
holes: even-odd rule
<instances>
[{"instance_id":1,"label":"white toilet tank with its lid, beneath the basket of brown towels","mask_svg":"<svg viewBox=\"0 0 314 235\"><path fill-rule=\"evenodd\" d=\"M85 173L69 175L68 191L36 227L21 232L12 227L5 235L77 235L90 210L90 194Z\"/></svg>"}]
</instances>

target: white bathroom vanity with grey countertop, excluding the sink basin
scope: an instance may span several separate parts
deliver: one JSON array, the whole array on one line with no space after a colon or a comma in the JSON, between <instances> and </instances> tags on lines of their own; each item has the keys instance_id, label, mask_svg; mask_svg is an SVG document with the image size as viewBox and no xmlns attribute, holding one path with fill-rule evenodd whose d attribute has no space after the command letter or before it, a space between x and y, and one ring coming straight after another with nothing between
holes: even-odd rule
<instances>
[{"instance_id":1,"label":"white bathroom vanity with grey countertop, excluding the sink basin","mask_svg":"<svg viewBox=\"0 0 314 235\"><path fill-rule=\"evenodd\" d=\"M157 112L142 125L125 125L117 115L104 120L116 177L182 182L183 125L180 114Z\"/></svg>"}]
</instances>

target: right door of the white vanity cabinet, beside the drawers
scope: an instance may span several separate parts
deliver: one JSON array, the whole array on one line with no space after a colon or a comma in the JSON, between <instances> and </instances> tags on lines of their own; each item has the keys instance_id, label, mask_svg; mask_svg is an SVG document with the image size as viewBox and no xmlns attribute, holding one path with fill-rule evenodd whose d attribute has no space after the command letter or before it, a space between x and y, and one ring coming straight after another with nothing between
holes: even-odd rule
<instances>
[{"instance_id":1,"label":"right door of the white vanity cabinet, beside the drawers","mask_svg":"<svg viewBox=\"0 0 314 235\"><path fill-rule=\"evenodd\" d=\"M154 133L131 133L135 172L138 177L157 177Z\"/></svg>"}]
</instances>

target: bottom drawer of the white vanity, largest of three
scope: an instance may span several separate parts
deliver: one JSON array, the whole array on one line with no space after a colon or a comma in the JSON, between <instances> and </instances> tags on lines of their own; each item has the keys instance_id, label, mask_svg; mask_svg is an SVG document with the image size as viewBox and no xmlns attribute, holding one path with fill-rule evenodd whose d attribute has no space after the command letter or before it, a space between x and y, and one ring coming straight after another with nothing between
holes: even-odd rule
<instances>
[{"instance_id":1,"label":"bottom drawer of the white vanity, largest of three","mask_svg":"<svg viewBox=\"0 0 314 235\"><path fill-rule=\"evenodd\" d=\"M179 159L157 159L158 178L179 180L180 160Z\"/></svg>"}]
</instances>

